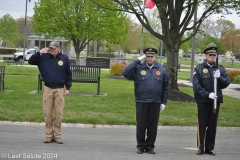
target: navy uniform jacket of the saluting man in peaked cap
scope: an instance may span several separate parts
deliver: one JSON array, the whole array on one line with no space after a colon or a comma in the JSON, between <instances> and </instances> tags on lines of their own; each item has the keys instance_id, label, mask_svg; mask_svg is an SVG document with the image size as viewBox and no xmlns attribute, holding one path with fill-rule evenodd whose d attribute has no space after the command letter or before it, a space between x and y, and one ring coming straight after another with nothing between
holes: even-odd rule
<instances>
[{"instance_id":1,"label":"navy uniform jacket of the saluting man in peaked cap","mask_svg":"<svg viewBox=\"0 0 240 160\"><path fill-rule=\"evenodd\" d=\"M140 103L166 104L169 92L169 77L166 69L155 62L150 69L146 62L135 60L122 72L129 80L134 80L135 101Z\"/></svg>"}]
</instances>

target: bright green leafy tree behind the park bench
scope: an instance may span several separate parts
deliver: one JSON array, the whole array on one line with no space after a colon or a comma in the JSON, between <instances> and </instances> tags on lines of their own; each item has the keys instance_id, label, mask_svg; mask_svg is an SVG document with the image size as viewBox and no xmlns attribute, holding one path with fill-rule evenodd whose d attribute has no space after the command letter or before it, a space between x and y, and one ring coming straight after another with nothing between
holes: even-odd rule
<instances>
[{"instance_id":1,"label":"bright green leafy tree behind the park bench","mask_svg":"<svg viewBox=\"0 0 240 160\"><path fill-rule=\"evenodd\" d=\"M118 7L112 1L108 5ZM91 40L122 44L126 39L126 14L104 10L89 0L41 0L35 3L34 11L35 33L72 41L77 60Z\"/></svg>"}]
</instances>

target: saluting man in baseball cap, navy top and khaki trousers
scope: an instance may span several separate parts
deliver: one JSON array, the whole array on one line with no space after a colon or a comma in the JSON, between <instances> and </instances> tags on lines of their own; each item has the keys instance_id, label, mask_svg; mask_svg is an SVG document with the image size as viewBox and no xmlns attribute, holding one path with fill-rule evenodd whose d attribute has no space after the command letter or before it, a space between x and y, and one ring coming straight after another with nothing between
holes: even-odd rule
<instances>
[{"instance_id":1,"label":"saluting man in baseball cap, navy top and khaki trousers","mask_svg":"<svg viewBox=\"0 0 240 160\"><path fill-rule=\"evenodd\" d=\"M59 42L53 41L49 48L43 48L32 55L28 63L38 66L44 80L43 112L46 132L44 143L56 141L62 144L61 124L64 96L69 94L69 89L72 86L69 58L62 54ZM53 110L55 113L54 119Z\"/></svg>"}]
</instances>

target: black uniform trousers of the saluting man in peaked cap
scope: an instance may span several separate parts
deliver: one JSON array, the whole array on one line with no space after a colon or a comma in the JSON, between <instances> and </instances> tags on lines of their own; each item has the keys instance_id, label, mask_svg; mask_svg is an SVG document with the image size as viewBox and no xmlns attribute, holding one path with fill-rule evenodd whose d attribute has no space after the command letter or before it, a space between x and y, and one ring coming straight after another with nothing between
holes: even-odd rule
<instances>
[{"instance_id":1,"label":"black uniform trousers of the saluting man in peaked cap","mask_svg":"<svg viewBox=\"0 0 240 160\"><path fill-rule=\"evenodd\" d=\"M136 103L138 149L155 148L159 115L160 103Z\"/></svg>"}]
</instances>

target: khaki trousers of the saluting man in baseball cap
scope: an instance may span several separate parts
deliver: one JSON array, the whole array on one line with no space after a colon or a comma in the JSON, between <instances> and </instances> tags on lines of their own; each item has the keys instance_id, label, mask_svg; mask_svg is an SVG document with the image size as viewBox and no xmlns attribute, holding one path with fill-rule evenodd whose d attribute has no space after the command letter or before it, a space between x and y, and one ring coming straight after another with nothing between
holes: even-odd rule
<instances>
[{"instance_id":1,"label":"khaki trousers of the saluting man in baseball cap","mask_svg":"<svg viewBox=\"0 0 240 160\"><path fill-rule=\"evenodd\" d=\"M64 88L52 89L44 86L43 113L46 138L60 138L64 109ZM53 112L55 113L53 116Z\"/></svg>"}]
</instances>

